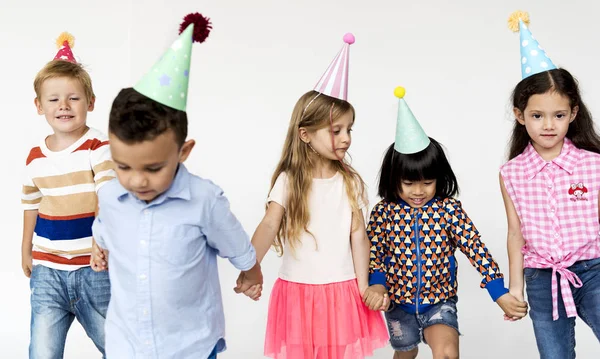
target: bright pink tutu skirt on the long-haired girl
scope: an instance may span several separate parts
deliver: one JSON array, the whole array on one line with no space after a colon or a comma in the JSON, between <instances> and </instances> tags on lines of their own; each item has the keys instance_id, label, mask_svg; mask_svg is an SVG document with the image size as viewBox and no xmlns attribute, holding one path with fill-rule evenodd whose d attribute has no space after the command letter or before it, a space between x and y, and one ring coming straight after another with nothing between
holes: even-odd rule
<instances>
[{"instance_id":1,"label":"bright pink tutu skirt on the long-haired girl","mask_svg":"<svg viewBox=\"0 0 600 359\"><path fill-rule=\"evenodd\" d=\"M356 280L302 284L277 279L269 301L265 355L359 359L387 345L381 312L367 308Z\"/></svg>"}]
</instances>

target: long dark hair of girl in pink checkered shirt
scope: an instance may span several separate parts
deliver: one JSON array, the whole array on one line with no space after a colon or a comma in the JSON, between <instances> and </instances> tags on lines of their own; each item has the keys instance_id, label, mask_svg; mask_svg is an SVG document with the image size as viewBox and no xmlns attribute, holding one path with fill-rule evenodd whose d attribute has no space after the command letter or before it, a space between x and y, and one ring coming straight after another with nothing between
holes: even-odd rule
<instances>
[{"instance_id":1,"label":"long dark hair of girl in pink checkered shirt","mask_svg":"<svg viewBox=\"0 0 600 359\"><path fill-rule=\"evenodd\" d=\"M577 80L565 69L553 69L524 78L517 84L512 94L513 107L525 111L529 98L533 95L554 91L569 99L571 109L579 107L577 117L569 125L567 138L582 150L600 153L600 136L594 128L592 115L581 99ZM529 134L525 126L516 119L509 142L508 159L520 155L529 144Z\"/></svg>"}]
</instances>

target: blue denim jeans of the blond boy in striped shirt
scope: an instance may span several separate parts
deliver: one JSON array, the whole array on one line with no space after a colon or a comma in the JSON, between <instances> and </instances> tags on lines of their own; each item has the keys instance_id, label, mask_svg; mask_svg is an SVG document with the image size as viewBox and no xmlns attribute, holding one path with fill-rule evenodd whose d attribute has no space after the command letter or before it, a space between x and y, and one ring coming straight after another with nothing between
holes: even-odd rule
<instances>
[{"instance_id":1,"label":"blue denim jeans of the blond boy in striped shirt","mask_svg":"<svg viewBox=\"0 0 600 359\"><path fill-rule=\"evenodd\" d=\"M67 331L77 318L104 357L104 319L110 300L108 272L33 267L30 359L61 359Z\"/></svg>"}]
</instances>

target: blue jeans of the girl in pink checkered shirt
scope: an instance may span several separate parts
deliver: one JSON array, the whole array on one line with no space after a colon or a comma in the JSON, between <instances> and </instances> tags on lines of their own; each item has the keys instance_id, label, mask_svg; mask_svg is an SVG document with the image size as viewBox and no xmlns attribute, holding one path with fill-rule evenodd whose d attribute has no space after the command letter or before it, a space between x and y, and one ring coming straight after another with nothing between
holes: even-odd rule
<instances>
[{"instance_id":1,"label":"blue jeans of the girl in pink checkered shirt","mask_svg":"<svg viewBox=\"0 0 600 359\"><path fill-rule=\"evenodd\" d=\"M577 314L600 340L600 258L569 267L583 286L571 285ZM559 276L560 277L560 276ZM557 320L552 320L552 269L525 268L529 316L533 321L540 359L575 358L575 318L567 318L558 286Z\"/></svg>"}]
</instances>

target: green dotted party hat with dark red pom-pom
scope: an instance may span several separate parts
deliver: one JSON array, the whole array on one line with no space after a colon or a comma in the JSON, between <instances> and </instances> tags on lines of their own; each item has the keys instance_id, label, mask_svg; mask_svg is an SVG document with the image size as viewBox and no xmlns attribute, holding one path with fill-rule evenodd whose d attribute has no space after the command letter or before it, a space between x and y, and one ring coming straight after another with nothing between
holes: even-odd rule
<instances>
[{"instance_id":1,"label":"green dotted party hat with dark red pom-pom","mask_svg":"<svg viewBox=\"0 0 600 359\"><path fill-rule=\"evenodd\" d=\"M179 38L133 88L165 106L185 111L192 43L204 42L211 29L210 19L199 13L187 15L180 26Z\"/></svg>"}]
</instances>

